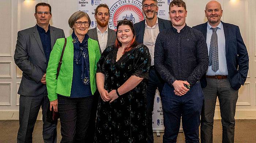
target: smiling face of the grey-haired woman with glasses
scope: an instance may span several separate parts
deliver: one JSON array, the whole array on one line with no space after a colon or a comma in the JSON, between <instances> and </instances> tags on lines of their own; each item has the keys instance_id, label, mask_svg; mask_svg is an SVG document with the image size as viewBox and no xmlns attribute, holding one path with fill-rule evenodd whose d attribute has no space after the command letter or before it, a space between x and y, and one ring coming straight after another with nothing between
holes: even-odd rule
<instances>
[{"instance_id":1,"label":"smiling face of the grey-haired woman with glasses","mask_svg":"<svg viewBox=\"0 0 256 143\"><path fill-rule=\"evenodd\" d=\"M76 20L76 22L88 22L88 19L84 16L78 20ZM87 34L87 31L89 29L89 25L85 26L84 23L82 23L82 25L78 26L76 23L73 26L73 29L75 31L76 36L84 36Z\"/></svg>"}]
</instances>

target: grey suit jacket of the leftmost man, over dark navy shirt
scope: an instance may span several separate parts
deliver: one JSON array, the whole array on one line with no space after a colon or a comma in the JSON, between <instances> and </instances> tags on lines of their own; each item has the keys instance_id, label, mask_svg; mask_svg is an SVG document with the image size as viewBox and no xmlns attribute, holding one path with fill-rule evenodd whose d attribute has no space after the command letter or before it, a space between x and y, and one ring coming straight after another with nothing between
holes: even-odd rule
<instances>
[{"instance_id":1,"label":"grey suit jacket of the leftmost man, over dark navy shirt","mask_svg":"<svg viewBox=\"0 0 256 143\"><path fill-rule=\"evenodd\" d=\"M62 29L50 27L51 48L63 37ZM46 85L40 80L46 73L46 58L37 26L18 32L14 61L23 71L18 94L36 96L44 93Z\"/></svg>"}]
</instances>

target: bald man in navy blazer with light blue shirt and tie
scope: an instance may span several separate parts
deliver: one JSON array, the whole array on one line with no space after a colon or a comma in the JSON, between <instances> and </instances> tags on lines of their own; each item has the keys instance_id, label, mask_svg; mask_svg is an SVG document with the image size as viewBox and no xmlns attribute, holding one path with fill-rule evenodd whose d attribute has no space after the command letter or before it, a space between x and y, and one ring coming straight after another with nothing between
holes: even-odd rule
<instances>
[{"instance_id":1,"label":"bald man in navy blazer with light blue shirt and tie","mask_svg":"<svg viewBox=\"0 0 256 143\"><path fill-rule=\"evenodd\" d=\"M221 4L210 1L205 15L208 22L193 28L201 31L209 52L209 66L201 78L204 104L201 115L201 142L212 143L213 118L217 97L221 109L222 142L234 142L238 89L247 77L248 53L238 26L224 23Z\"/></svg>"}]
</instances>

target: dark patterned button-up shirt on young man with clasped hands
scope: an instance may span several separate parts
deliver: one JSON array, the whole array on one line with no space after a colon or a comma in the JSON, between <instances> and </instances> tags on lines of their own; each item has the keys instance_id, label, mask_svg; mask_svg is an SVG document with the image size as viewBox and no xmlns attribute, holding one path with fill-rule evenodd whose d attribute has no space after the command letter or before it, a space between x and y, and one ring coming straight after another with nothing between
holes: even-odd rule
<instances>
[{"instance_id":1,"label":"dark patterned button-up shirt on young man with clasped hands","mask_svg":"<svg viewBox=\"0 0 256 143\"><path fill-rule=\"evenodd\" d=\"M174 27L160 32L155 42L155 68L163 80L176 80L193 86L208 68L208 50L203 34L187 25L177 32Z\"/></svg>"}]
</instances>

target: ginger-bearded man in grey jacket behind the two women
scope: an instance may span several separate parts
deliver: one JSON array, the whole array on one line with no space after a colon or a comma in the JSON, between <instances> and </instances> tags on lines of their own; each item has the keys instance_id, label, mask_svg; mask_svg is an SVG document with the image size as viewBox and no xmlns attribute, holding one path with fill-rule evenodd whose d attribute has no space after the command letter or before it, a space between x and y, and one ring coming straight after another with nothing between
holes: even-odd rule
<instances>
[{"instance_id":1,"label":"ginger-bearded man in grey jacket behind the two women","mask_svg":"<svg viewBox=\"0 0 256 143\"><path fill-rule=\"evenodd\" d=\"M114 45L116 41L116 31L108 28L109 7L106 4L100 4L95 9L94 18L97 21L97 27L90 29L88 35L91 39L97 40L101 53L106 47Z\"/></svg>"}]
</instances>

